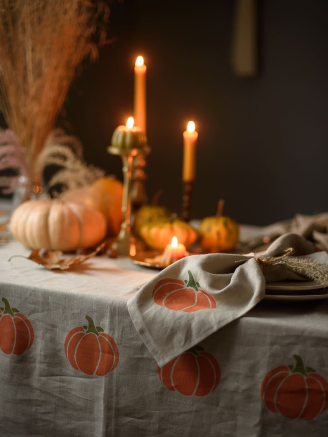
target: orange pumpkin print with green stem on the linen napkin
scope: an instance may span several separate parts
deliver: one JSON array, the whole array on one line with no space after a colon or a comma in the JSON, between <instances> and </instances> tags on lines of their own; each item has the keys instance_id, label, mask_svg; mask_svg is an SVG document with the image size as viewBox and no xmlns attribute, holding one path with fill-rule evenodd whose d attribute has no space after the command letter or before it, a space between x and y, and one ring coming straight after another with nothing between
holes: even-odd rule
<instances>
[{"instance_id":1,"label":"orange pumpkin print with green stem on the linen napkin","mask_svg":"<svg viewBox=\"0 0 328 437\"><path fill-rule=\"evenodd\" d=\"M185 281L171 278L158 281L153 290L155 303L174 311L185 312L216 308L213 297L200 288L190 270L188 270L188 275L189 279Z\"/></svg>"}]
</instances>

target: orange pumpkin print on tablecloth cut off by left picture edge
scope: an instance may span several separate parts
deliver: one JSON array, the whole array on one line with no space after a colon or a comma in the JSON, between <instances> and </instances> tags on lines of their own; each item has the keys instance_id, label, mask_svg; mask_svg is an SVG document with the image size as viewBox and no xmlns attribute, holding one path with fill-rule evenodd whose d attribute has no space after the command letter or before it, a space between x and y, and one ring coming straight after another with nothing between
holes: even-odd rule
<instances>
[{"instance_id":1,"label":"orange pumpkin print on tablecloth cut off by left picture edge","mask_svg":"<svg viewBox=\"0 0 328 437\"><path fill-rule=\"evenodd\" d=\"M31 322L18 309L10 308L6 298L2 301L5 306L0 309L0 349L5 354L21 355L33 344Z\"/></svg>"}]
</instances>

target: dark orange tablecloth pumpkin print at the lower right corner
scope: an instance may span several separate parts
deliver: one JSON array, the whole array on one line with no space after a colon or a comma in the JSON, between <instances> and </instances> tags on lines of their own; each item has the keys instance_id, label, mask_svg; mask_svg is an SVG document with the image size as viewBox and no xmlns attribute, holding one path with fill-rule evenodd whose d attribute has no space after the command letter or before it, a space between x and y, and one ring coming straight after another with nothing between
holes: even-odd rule
<instances>
[{"instance_id":1,"label":"dark orange tablecloth pumpkin print at the lower right corner","mask_svg":"<svg viewBox=\"0 0 328 437\"><path fill-rule=\"evenodd\" d=\"M295 366L280 366L265 375L261 397L273 413L290 419L311 420L328 408L328 382L302 358L294 355Z\"/></svg>"}]
</instances>

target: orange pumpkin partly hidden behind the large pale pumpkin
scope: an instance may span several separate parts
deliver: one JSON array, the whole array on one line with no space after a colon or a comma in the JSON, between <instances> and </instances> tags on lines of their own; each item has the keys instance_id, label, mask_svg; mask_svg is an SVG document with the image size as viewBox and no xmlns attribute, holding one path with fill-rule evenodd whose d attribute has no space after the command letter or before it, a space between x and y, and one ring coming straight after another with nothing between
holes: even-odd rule
<instances>
[{"instance_id":1,"label":"orange pumpkin partly hidden behind the large pale pumpkin","mask_svg":"<svg viewBox=\"0 0 328 437\"><path fill-rule=\"evenodd\" d=\"M113 177L102 177L93 184L66 191L65 201L82 203L98 209L106 218L107 236L118 235L122 223L123 184Z\"/></svg>"}]
</instances>

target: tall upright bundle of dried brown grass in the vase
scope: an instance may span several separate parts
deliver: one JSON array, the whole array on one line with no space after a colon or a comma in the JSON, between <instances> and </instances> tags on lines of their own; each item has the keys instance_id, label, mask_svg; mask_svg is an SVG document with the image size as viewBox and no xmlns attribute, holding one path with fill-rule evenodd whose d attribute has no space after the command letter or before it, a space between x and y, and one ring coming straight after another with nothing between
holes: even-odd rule
<instances>
[{"instance_id":1,"label":"tall upright bundle of dried brown grass in the vase","mask_svg":"<svg viewBox=\"0 0 328 437\"><path fill-rule=\"evenodd\" d=\"M0 2L0 110L31 175L77 67L105 42L108 15L101 0Z\"/></svg>"}]
</instances>

